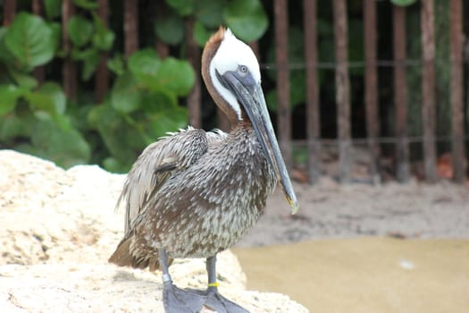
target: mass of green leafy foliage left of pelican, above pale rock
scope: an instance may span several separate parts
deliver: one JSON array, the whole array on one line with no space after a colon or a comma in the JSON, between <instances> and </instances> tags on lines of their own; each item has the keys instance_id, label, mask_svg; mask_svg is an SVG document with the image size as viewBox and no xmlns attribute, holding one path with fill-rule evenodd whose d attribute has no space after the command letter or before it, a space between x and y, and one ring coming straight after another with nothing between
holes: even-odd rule
<instances>
[{"instance_id":1,"label":"mass of green leafy foliage left of pelican, above pale rock","mask_svg":"<svg viewBox=\"0 0 469 313\"><path fill-rule=\"evenodd\" d=\"M45 2L48 19L60 13L55 4L60 2ZM192 89L195 72L186 61L161 60L153 49L143 49L129 60L116 54L108 61L117 77L100 106L86 95L71 102L57 82L39 85L31 72L67 55L83 63L82 80L90 79L101 52L113 47L114 33L97 16L96 2L74 4L91 18L69 20L70 51L57 50L58 24L30 13L18 13L8 28L0 28L0 141L63 167L94 160L108 170L128 171L145 146L185 127L187 111L178 98Z\"/></svg>"}]
</instances>

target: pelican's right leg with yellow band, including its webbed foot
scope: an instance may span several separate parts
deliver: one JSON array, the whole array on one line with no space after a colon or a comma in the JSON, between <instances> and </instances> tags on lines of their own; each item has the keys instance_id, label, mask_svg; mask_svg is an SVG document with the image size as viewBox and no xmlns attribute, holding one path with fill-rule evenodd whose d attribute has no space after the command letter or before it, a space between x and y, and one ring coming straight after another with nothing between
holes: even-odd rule
<instances>
[{"instance_id":1,"label":"pelican's right leg with yellow band, including its webbed foot","mask_svg":"<svg viewBox=\"0 0 469 313\"><path fill-rule=\"evenodd\" d=\"M206 291L205 306L214 309L218 313L249 313L238 304L223 297L218 292L216 282L216 256L206 259L208 274L208 288Z\"/></svg>"}]
</instances>

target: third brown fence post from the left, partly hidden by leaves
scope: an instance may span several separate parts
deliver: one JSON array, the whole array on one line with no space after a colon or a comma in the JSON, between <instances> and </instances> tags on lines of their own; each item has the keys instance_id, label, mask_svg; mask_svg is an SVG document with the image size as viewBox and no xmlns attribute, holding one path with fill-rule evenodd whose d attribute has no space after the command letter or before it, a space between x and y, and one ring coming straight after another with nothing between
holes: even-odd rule
<instances>
[{"instance_id":1,"label":"third brown fence post from the left, partly hidden by leaves","mask_svg":"<svg viewBox=\"0 0 469 313\"><path fill-rule=\"evenodd\" d=\"M71 15L75 13L75 7L71 0L63 0L62 2L62 42L63 51L67 55L63 59L62 77L63 77L63 90L65 95L71 100L77 98L77 68L73 60L71 60L71 41L67 34L67 23Z\"/></svg>"}]
</instances>

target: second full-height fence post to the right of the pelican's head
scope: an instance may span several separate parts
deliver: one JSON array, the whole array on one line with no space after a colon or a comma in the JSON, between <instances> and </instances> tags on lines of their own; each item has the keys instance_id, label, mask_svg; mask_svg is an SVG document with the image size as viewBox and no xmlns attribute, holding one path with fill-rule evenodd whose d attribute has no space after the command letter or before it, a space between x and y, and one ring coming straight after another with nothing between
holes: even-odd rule
<instances>
[{"instance_id":1,"label":"second full-height fence post to the right of the pelican's head","mask_svg":"<svg viewBox=\"0 0 469 313\"><path fill-rule=\"evenodd\" d=\"M321 121L319 118L319 80L317 76L316 0L304 0L306 59L306 138L308 179L313 184L321 178Z\"/></svg>"}]
</instances>

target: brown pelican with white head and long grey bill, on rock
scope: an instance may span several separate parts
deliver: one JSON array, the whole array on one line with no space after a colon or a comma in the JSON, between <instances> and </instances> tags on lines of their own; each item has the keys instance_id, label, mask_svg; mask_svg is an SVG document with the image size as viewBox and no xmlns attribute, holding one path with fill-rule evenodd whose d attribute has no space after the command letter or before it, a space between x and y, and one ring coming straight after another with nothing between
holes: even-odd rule
<instances>
[{"instance_id":1,"label":"brown pelican with white head and long grey bill, on rock","mask_svg":"<svg viewBox=\"0 0 469 313\"><path fill-rule=\"evenodd\" d=\"M297 211L272 130L252 50L220 28L202 55L202 76L229 133L188 127L149 145L132 166L119 203L126 207L125 235L109 261L160 268L166 312L247 312L218 292L216 254L230 248L261 216L276 182ZM207 290L172 283L172 258L206 258Z\"/></svg>"}]
</instances>

